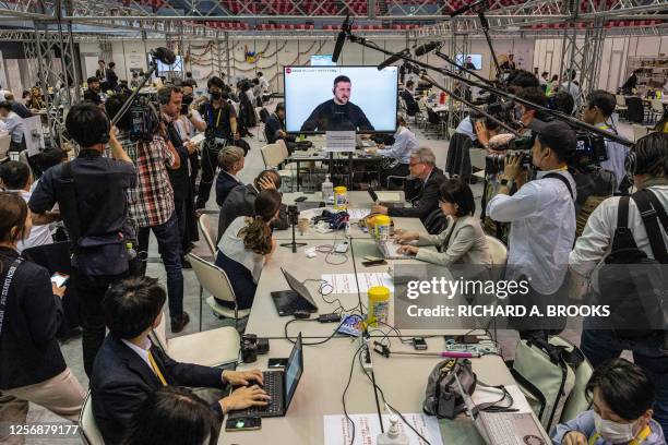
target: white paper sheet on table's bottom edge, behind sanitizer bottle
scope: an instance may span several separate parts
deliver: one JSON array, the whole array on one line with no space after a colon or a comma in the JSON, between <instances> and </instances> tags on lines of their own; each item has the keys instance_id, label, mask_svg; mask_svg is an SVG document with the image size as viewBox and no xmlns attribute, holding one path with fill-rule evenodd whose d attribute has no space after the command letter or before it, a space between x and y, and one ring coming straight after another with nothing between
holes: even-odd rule
<instances>
[{"instance_id":1,"label":"white paper sheet on table's bottom edge, behind sanitizer bottle","mask_svg":"<svg viewBox=\"0 0 668 445\"><path fill-rule=\"evenodd\" d=\"M439 421L436 417L421 413L403 414L431 445L441 445L441 431ZM378 435L381 433L378 414L350 414L350 420L355 422L355 442L353 445L375 444ZM324 436L325 445L348 445L353 436L350 422L345 416L324 416ZM383 414L383 425L385 431L390 428L390 416ZM399 420L399 429L408 437L410 445L426 445L413 430Z\"/></svg>"}]
</instances>

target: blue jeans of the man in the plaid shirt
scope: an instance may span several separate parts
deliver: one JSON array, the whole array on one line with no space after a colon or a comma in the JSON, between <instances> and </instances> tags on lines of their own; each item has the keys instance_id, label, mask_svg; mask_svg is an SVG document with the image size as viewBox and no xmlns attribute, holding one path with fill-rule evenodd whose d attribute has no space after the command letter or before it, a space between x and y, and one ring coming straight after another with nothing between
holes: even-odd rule
<instances>
[{"instance_id":1,"label":"blue jeans of the man in the plaid shirt","mask_svg":"<svg viewBox=\"0 0 668 445\"><path fill-rule=\"evenodd\" d=\"M176 212L159 226L142 227L139 230L140 252L148 250L148 234L153 231L158 242L158 251L167 273L167 298L169 301L169 316L180 316L183 313L183 273L181 272L181 238ZM146 260L144 260L144 273Z\"/></svg>"}]
</instances>

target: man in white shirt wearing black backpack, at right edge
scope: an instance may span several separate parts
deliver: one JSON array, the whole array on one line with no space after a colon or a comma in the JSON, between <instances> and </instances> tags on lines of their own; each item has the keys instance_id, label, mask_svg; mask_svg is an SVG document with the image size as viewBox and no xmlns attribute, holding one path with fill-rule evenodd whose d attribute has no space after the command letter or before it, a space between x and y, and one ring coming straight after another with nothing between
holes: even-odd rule
<instances>
[{"instance_id":1,"label":"man in white shirt wearing black backpack, at right edge","mask_svg":"<svg viewBox=\"0 0 668 445\"><path fill-rule=\"evenodd\" d=\"M635 143L631 154L628 175L633 178L634 185L639 190L652 192L664 211L668 212L668 134L649 133ZM588 280L610 252L617 229L619 202L620 196L609 197L589 216L582 237L569 256L570 268L576 276ZM660 220L658 225L661 239L668 246L666 227L660 229ZM647 230L633 200L629 202L628 227L637 249L645 252L647 257L655 258L656 252L649 245ZM601 303L606 304L606 301ZM625 340L610 330L592 329L593 323L595 321L585 318L581 339L581 349L592 365L597 366L617 358L623 350L632 351L633 361L653 374L656 385L654 418L661 424L664 432L668 431L668 356L661 350L661 332L645 338Z\"/></svg>"}]
</instances>

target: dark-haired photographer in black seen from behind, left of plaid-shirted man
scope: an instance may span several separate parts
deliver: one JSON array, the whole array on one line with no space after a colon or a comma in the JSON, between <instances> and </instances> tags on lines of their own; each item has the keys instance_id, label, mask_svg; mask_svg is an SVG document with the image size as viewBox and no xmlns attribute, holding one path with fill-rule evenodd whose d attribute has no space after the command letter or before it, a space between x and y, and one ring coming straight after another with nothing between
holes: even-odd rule
<instances>
[{"instance_id":1,"label":"dark-haired photographer in black seen from behind, left of plaid-shirted man","mask_svg":"<svg viewBox=\"0 0 668 445\"><path fill-rule=\"evenodd\" d=\"M99 107L73 106L65 128L81 147L79 156L48 169L28 206L37 216L56 203L60 207L71 240L73 278L81 296L84 368L91 375L105 339L102 300L109 286L129 270L127 192L136 187L136 170ZM103 156L107 142L114 159Z\"/></svg>"}]
</instances>

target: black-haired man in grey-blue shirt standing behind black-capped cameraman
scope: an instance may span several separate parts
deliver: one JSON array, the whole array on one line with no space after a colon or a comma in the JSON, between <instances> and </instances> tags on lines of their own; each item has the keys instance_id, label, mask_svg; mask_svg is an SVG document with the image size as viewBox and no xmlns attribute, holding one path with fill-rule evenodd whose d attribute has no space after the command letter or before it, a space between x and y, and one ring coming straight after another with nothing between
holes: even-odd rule
<instances>
[{"instance_id":1,"label":"black-haired man in grey-blue shirt standing behind black-capped cameraman","mask_svg":"<svg viewBox=\"0 0 668 445\"><path fill-rule=\"evenodd\" d=\"M596 89L587 96L587 104L582 110L582 120L589 125L617 134L617 129L615 129L615 124L610 120L616 105L617 100L612 94L603 89ZM608 120L610 120L610 123L608 123ZM606 152L608 153L608 160L600 163L600 166L615 173L619 188L627 176L624 161L629 155L629 147L618 142L606 140Z\"/></svg>"}]
</instances>

